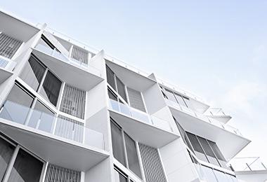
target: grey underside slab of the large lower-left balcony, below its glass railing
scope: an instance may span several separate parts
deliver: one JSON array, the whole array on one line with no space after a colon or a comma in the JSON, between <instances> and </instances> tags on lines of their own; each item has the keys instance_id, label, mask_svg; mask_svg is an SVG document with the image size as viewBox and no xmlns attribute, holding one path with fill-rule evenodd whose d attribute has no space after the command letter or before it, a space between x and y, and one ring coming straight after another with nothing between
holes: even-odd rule
<instances>
[{"instance_id":1,"label":"grey underside slab of the large lower-left balcony, below its glass railing","mask_svg":"<svg viewBox=\"0 0 267 182\"><path fill-rule=\"evenodd\" d=\"M43 160L78 171L86 171L108 158L108 152L83 144L70 144L57 137L31 127L0 118L0 132L32 151Z\"/></svg>"}]
</instances>

